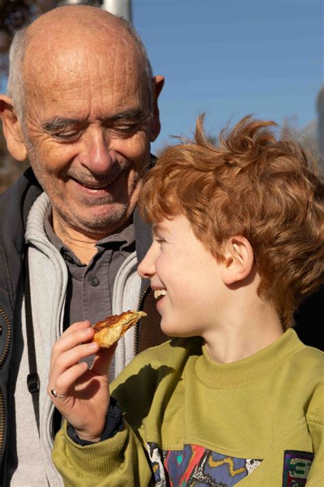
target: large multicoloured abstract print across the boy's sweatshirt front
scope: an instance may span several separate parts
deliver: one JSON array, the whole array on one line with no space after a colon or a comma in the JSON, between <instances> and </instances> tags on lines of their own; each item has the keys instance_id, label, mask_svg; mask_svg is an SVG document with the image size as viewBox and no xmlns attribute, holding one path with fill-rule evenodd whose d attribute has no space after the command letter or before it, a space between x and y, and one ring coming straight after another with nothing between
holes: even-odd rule
<instances>
[{"instance_id":1,"label":"large multicoloured abstract print across the boy's sweatshirt front","mask_svg":"<svg viewBox=\"0 0 324 487\"><path fill-rule=\"evenodd\" d=\"M249 475L262 460L221 455L199 445L165 451L147 444L157 487L232 487Z\"/></svg>"}]
</instances>

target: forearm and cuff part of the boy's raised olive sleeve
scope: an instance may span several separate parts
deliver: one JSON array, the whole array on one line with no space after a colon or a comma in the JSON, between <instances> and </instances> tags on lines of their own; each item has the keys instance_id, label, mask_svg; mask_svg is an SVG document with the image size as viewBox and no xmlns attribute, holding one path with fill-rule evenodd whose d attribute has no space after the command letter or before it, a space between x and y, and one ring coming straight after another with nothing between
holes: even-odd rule
<instances>
[{"instance_id":1,"label":"forearm and cuff part of the boy's raised olive sleeve","mask_svg":"<svg viewBox=\"0 0 324 487\"><path fill-rule=\"evenodd\" d=\"M81 446L69 438L65 421L55 436L53 462L65 486L154 485L144 447L126 423L113 438Z\"/></svg>"}]
</instances>

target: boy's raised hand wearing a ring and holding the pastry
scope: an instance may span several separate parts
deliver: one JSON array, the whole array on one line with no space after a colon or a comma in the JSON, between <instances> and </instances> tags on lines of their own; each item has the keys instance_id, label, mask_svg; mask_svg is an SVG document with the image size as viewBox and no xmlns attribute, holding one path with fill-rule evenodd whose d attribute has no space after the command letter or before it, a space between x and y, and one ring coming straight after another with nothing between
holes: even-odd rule
<instances>
[{"instance_id":1,"label":"boy's raised hand wearing a ring and holding the pastry","mask_svg":"<svg viewBox=\"0 0 324 487\"><path fill-rule=\"evenodd\" d=\"M80 321L55 342L47 393L79 438L95 442L100 440L105 427L110 401L109 366L117 344L99 350L99 345L91 342L93 336L89 321ZM91 370L85 362L79 362L94 353ZM64 397L53 396L52 390Z\"/></svg>"}]
</instances>

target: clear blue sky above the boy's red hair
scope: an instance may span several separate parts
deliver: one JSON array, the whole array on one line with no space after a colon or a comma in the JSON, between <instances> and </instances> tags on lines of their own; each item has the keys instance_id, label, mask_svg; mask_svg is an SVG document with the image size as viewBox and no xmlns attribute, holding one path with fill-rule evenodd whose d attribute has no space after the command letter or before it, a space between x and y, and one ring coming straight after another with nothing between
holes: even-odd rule
<instances>
[{"instance_id":1,"label":"clear blue sky above the boy's red hair","mask_svg":"<svg viewBox=\"0 0 324 487\"><path fill-rule=\"evenodd\" d=\"M301 128L324 83L324 0L133 0L133 24L165 75L162 130L188 135L196 116L218 132L247 113Z\"/></svg>"}]
</instances>

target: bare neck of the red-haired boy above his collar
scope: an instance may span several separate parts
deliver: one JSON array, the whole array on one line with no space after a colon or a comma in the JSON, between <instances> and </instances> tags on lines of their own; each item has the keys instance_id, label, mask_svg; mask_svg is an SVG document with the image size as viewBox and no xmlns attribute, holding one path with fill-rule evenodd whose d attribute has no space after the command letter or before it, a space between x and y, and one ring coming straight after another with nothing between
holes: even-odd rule
<instances>
[{"instance_id":1,"label":"bare neck of the red-haired boy above his collar","mask_svg":"<svg viewBox=\"0 0 324 487\"><path fill-rule=\"evenodd\" d=\"M282 323L270 303L258 300L235 305L203 337L211 360L237 362L265 349L284 333Z\"/></svg>"}]
</instances>

